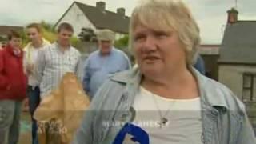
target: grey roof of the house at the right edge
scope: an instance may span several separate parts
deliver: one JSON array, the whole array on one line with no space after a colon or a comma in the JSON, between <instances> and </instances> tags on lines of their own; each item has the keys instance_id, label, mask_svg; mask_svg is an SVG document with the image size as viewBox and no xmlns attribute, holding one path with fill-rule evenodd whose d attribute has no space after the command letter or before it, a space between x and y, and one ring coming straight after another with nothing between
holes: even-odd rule
<instances>
[{"instance_id":1,"label":"grey roof of the house at the right edge","mask_svg":"<svg viewBox=\"0 0 256 144\"><path fill-rule=\"evenodd\" d=\"M256 64L256 21L226 26L218 62Z\"/></svg>"}]
</instances>

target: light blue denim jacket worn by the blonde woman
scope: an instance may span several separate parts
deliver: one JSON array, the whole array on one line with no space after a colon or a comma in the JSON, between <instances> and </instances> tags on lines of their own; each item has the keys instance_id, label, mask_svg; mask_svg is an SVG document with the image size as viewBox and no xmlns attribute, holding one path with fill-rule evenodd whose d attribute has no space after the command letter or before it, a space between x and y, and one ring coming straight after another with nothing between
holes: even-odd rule
<instances>
[{"instance_id":1,"label":"light blue denim jacket worn by the blonde woman","mask_svg":"<svg viewBox=\"0 0 256 144\"><path fill-rule=\"evenodd\" d=\"M205 144L256 144L242 102L226 86L191 68L197 79L202 108L202 142ZM108 144L122 124L130 122L130 107L142 74L138 68L114 74L96 93L86 111L74 144ZM110 125L109 123L110 122ZM111 122L123 122L111 125Z\"/></svg>"}]
</instances>

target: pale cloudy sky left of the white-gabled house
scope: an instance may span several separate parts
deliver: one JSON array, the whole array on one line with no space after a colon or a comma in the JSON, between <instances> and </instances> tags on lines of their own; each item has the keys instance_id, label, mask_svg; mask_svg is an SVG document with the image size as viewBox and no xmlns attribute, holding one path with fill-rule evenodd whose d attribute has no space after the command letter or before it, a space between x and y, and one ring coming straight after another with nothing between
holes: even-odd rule
<instances>
[{"instance_id":1,"label":"pale cloudy sky left of the white-gabled house","mask_svg":"<svg viewBox=\"0 0 256 144\"><path fill-rule=\"evenodd\" d=\"M0 5L0 24L23 26L41 20L54 22L71 2L71 0L4 0Z\"/></svg>"}]
</instances>

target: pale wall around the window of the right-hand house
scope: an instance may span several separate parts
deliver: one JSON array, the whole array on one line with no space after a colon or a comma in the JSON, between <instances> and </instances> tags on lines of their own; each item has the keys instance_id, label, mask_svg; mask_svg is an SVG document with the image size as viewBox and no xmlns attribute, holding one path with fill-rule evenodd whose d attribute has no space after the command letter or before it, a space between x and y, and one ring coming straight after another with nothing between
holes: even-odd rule
<instances>
[{"instance_id":1,"label":"pale wall around the window of the right-hand house","mask_svg":"<svg viewBox=\"0 0 256 144\"><path fill-rule=\"evenodd\" d=\"M230 88L242 98L242 82L244 73L256 73L256 66L219 65L218 81ZM256 91L256 81L254 81L254 91Z\"/></svg>"}]
</instances>

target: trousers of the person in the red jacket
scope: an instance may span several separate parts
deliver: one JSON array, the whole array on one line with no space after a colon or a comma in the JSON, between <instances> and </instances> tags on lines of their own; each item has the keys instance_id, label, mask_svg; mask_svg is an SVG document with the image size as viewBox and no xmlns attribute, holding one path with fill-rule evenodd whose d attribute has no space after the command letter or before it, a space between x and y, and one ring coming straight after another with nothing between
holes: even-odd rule
<instances>
[{"instance_id":1,"label":"trousers of the person in the red jacket","mask_svg":"<svg viewBox=\"0 0 256 144\"><path fill-rule=\"evenodd\" d=\"M22 101L0 100L0 143L17 144Z\"/></svg>"}]
</instances>

